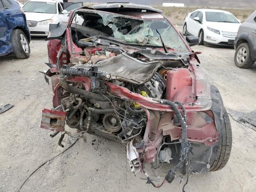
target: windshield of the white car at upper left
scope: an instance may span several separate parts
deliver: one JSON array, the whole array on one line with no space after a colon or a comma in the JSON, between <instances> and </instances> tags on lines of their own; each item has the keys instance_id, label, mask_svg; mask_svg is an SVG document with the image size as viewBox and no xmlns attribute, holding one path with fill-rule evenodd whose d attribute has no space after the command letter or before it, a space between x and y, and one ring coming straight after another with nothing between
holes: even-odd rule
<instances>
[{"instance_id":1,"label":"windshield of the white car at upper left","mask_svg":"<svg viewBox=\"0 0 256 192\"><path fill-rule=\"evenodd\" d=\"M23 6L25 12L56 14L56 3L30 1Z\"/></svg>"}]
</instances>

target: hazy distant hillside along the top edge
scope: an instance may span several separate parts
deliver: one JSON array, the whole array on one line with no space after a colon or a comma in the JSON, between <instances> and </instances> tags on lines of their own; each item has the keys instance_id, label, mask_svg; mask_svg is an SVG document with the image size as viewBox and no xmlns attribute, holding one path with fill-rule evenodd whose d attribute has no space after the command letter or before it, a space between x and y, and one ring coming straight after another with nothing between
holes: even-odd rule
<instances>
[{"instance_id":1,"label":"hazy distant hillside along the top edge","mask_svg":"<svg viewBox=\"0 0 256 192\"><path fill-rule=\"evenodd\" d=\"M81 0L70 0L71 2L81 2ZM256 0L86 0L91 3L105 2L131 2L136 4L161 6L162 3L184 3L185 6L192 7L222 7L222 8L242 8L256 9ZM189 3L188 3L189 2Z\"/></svg>"}]
</instances>

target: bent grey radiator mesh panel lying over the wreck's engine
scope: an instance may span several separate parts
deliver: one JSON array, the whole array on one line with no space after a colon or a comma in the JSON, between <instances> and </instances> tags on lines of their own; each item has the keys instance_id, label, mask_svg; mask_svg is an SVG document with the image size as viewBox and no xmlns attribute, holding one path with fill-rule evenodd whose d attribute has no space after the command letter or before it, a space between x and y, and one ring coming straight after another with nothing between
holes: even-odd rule
<instances>
[{"instance_id":1,"label":"bent grey radiator mesh panel lying over the wreck's engine","mask_svg":"<svg viewBox=\"0 0 256 192\"><path fill-rule=\"evenodd\" d=\"M120 54L94 64L94 66L98 66L99 71L110 73L112 79L124 80L134 84L143 84L150 80L161 65L162 62L160 61L145 63L126 54ZM72 68L90 69L91 65L76 65Z\"/></svg>"}]
</instances>

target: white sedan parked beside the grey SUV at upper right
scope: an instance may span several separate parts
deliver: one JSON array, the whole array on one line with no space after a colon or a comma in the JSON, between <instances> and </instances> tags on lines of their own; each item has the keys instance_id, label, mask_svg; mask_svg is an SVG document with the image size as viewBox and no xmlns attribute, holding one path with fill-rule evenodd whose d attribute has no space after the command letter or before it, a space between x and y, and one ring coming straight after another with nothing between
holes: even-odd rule
<instances>
[{"instance_id":1,"label":"white sedan parked beside the grey SUV at upper right","mask_svg":"<svg viewBox=\"0 0 256 192\"><path fill-rule=\"evenodd\" d=\"M186 16L183 35L198 36L200 45L233 47L239 26L240 20L230 12L198 9Z\"/></svg>"}]
</instances>

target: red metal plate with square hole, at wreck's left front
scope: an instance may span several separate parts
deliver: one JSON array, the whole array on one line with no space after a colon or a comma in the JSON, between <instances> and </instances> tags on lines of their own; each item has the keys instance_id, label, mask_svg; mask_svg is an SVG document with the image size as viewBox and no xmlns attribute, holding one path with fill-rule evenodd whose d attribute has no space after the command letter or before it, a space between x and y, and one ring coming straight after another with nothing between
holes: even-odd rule
<instances>
[{"instance_id":1,"label":"red metal plate with square hole, at wreck's left front","mask_svg":"<svg viewBox=\"0 0 256 192\"><path fill-rule=\"evenodd\" d=\"M40 128L63 132L66 121L66 112L43 109Z\"/></svg>"}]
</instances>

